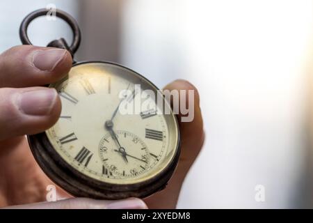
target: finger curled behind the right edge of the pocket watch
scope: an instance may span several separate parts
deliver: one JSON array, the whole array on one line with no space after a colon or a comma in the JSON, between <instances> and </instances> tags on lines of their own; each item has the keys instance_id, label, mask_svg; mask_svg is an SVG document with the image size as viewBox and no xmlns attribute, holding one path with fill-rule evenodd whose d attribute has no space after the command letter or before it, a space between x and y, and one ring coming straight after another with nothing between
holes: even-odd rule
<instances>
[{"instance_id":1,"label":"finger curled behind the right edge of the pocket watch","mask_svg":"<svg viewBox=\"0 0 313 223\"><path fill-rule=\"evenodd\" d=\"M200 110L200 98L195 86L182 79L176 80L164 87L170 91L187 90L186 99L188 99L188 90L195 90L195 116L192 122L180 122L179 128L181 134L181 154L175 173L168 182L167 187L144 199L148 208L175 208L179 197L179 192L188 174L191 165L201 151L204 142L204 131L202 115ZM187 102L188 103L188 102ZM188 104L187 104L188 105ZM181 116L181 114L179 114ZM180 119L180 118L179 118Z\"/></svg>"}]
</instances>

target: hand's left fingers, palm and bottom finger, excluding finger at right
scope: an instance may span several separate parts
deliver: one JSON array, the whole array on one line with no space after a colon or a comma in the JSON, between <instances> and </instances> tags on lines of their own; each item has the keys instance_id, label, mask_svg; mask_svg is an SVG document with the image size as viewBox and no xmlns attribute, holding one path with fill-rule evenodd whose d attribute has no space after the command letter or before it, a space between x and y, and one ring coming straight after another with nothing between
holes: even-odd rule
<instances>
[{"instance_id":1,"label":"hand's left fingers, palm and bottom finger, excluding finger at right","mask_svg":"<svg viewBox=\"0 0 313 223\"><path fill-rule=\"evenodd\" d=\"M33 86L56 82L71 67L72 58L63 49L19 46L0 55L0 207L146 208L141 199L35 203L46 200L47 185L53 183L35 162L24 134L54 125L61 113L61 100L54 89ZM58 197L70 197L60 188L57 191Z\"/></svg>"}]
</instances>

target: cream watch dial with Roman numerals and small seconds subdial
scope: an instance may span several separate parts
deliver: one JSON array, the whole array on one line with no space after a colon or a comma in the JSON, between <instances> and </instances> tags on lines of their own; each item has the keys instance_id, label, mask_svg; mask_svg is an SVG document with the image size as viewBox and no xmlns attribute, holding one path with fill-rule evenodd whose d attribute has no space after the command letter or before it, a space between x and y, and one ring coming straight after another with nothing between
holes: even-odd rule
<instances>
[{"instance_id":1,"label":"cream watch dial with Roman numerals and small seconds subdial","mask_svg":"<svg viewBox=\"0 0 313 223\"><path fill-rule=\"evenodd\" d=\"M61 96L62 112L46 134L70 169L128 185L158 176L174 159L175 115L136 72L113 63L81 63L51 87Z\"/></svg>"}]
</instances>

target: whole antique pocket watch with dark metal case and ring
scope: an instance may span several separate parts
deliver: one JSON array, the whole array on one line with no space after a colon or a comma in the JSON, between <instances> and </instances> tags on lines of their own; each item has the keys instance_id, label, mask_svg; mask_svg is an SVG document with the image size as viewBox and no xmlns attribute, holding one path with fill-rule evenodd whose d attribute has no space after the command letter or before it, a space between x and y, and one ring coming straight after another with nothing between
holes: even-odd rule
<instances>
[{"instance_id":1,"label":"whole antique pocket watch with dark metal case and ring","mask_svg":"<svg viewBox=\"0 0 313 223\"><path fill-rule=\"evenodd\" d=\"M19 29L23 44L31 45L29 23L48 12L40 9L25 17ZM61 10L56 16L70 24L73 43L68 46L61 38L48 46L74 55L79 26ZM28 139L51 180L76 197L97 199L147 197L166 187L179 158L179 125L157 86L125 66L85 61L74 62L68 75L49 87L60 95L61 116L53 127ZM150 109L122 114L121 106L143 103L143 98Z\"/></svg>"}]
</instances>

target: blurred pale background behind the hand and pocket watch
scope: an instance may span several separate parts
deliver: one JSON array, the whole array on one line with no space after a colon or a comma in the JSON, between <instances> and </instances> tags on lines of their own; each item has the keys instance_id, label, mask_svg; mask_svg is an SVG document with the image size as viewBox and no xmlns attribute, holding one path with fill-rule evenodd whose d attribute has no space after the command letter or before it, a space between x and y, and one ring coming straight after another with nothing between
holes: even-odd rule
<instances>
[{"instance_id":1,"label":"blurred pale background behind the hand and pocket watch","mask_svg":"<svg viewBox=\"0 0 313 223\"><path fill-rule=\"evenodd\" d=\"M179 78L200 91L207 138L177 208L313 207L313 1L1 1L0 51L20 44L28 13L51 4L81 26L78 61L114 61L160 88ZM42 17L29 37L47 45L61 37L70 42L72 33L65 22Z\"/></svg>"}]
</instances>

